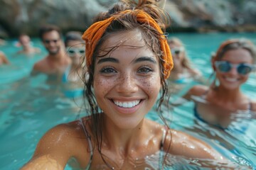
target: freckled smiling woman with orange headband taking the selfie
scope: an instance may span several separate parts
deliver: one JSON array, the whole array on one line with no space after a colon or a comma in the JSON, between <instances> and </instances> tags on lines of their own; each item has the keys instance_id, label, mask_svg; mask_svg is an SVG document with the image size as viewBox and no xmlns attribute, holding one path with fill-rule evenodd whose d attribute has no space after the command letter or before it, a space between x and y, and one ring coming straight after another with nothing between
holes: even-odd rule
<instances>
[{"instance_id":1,"label":"freckled smiling woman with orange headband taking the selfie","mask_svg":"<svg viewBox=\"0 0 256 170\"><path fill-rule=\"evenodd\" d=\"M85 96L88 116L46 132L23 169L63 169L70 158L81 169L164 169L167 154L225 163L205 142L145 118L173 67L161 26L164 12L156 1L120 1L100 13L82 38L85 40ZM85 75L89 74L89 79ZM159 109L159 116L161 110ZM218 164L221 166L224 164ZM42 168L43 167L43 168Z\"/></svg>"}]
</instances>

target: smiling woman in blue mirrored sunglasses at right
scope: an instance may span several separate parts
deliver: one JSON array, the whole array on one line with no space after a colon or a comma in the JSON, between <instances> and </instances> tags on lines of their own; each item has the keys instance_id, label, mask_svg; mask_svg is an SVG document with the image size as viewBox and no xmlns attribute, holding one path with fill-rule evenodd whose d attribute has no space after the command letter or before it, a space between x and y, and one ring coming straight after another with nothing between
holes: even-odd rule
<instances>
[{"instance_id":1,"label":"smiling woman in blue mirrored sunglasses at right","mask_svg":"<svg viewBox=\"0 0 256 170\"><path fill-rule=\"evenodd\" d=\"M226 40L212 57L215 79L211 86L193 86L183 98L196 99L194 111L197 118L226 129L235 121L234 114L238 111L248 116L256 111L256 102L241 91L250 72L255 71L255 63L255 45L250 40ZM198 102L198 97L205 102Z\"/></svg>"}]
</instances>

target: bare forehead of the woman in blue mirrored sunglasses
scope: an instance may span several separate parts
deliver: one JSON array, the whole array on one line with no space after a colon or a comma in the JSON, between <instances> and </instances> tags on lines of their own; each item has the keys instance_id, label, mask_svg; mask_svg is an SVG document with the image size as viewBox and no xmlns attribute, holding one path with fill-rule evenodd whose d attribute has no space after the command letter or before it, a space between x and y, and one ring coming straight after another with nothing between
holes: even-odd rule
<instances>
[{"instance_id":1,"label":"bare forehead of the woman in blue mirrored sunglasses","mask_svg":"<svg viewBox=\"0 0 256 170\"><path fill-rule=\"evenodd\" d=\"M252 63L253 59L248 50L243 48L228 50L224 53L222 60L228 60L229 62L247 62Z\"/></svg>"}]
</instances>

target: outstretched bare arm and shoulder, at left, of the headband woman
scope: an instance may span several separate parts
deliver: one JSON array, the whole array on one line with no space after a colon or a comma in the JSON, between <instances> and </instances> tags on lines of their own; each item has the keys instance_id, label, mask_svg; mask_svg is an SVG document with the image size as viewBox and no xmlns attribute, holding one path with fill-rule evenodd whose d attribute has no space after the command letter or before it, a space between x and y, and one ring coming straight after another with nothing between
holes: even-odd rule
<instances>
[{"instance_id":1,"label":"outstretched bare arm and shoulder, at left, of the headband woman","mask_svg":"<svg viewBox=\"0 0 256 170\"><path fill-rule=\"evenodd\" d=\"M79 159L80 151L84 153L83 157L87 156L87 140L82 125L78 121L57 125L43 135L31 161L23 169L35 169L38 164L50 169L63 169L70 157Z\"/></svg>"}]
</instances>

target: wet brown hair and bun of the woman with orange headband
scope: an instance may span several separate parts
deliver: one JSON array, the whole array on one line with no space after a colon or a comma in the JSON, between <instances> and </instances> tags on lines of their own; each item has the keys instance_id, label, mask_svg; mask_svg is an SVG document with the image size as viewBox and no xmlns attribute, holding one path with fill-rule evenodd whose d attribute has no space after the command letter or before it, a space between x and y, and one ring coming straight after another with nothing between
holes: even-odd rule
<instances>
[{"instance_id":1,"label":"wet brown hair and bun of the woman with orange headband","mask_svg":"<svg viewBox=\"0 0 256 170\"><path fill-rule=\"evenodd\" d=\"M145 11L146 13L151 16L151 18L154 18L154 20L161 26L161 28L164 30L165 23L168 23L168 17L166 17L166 13L159 8L155 0L140 0L138 4L135 1L129 1L129 0L122 0L119 1L119 3L115 4L112 8L110 8L109 11L105 13L100 13L94 20L94 22L97 21L103 21L107 18L110 18L113 14L119 13L119 11L124 10L134 10L134 9L141 9ZM167 15L168 16L168 15ZM114 33L121 33L124 31L132 31L132 30L139 30L140 33L142 33L143 40L149 49L154 52L154 55L159 60L159 67L160 67L160 77L161 77L161 98L158 103L157 111L159 113L160 118L166 123L164 120L164 116L161 113L161 103L163 103L164 99L166 98L166 95L168 94L168 86L165 80L165 74L164 74L164 60L161 60L161 56L163 55L163 52L161 51L159 39L162 38L161 33L157 31L155 28L149 25L149 23L140 23L137 21L137 13L126 13L122 16L119 16L116 20L112 21L110 23L110 26L107 27L105 30L105 33L102 35L102 38L97 42L97 45L95 47L95 51L92 54L92 64L89 68L86 66L84 67L84 73L83 73L83 81L85 83L85 94L84 97L87 100L87 103L89 104L88 115L91 115L92 118L92 124L91 124L91 130L92 135L94 136L93 139L95 140L95 144L97 145L97 149L102 155L101 152L101 146L102 146L102 128L103 128L103 116L100 114L100 108L97 106L97 101L95 99L95 95L92 90L93 81L94 81L94 74L95 74L95 61L97 57L104 57L105 55L112 52L112 50L115 50L116 47L113 47L110 51L105 52L104 55L99 55L101 50L101 45L107 38L109 38ZM86 59L83 58L83 62L85 62ZM85 79L85 75L89 74L89 79ZM168 127L167 123L166 126ZM105 162L105 159L102 157L102 159ZM107 164L107 162L105 162ZM107 164L108 165L108 164ZM110 166L111 167L111 166Z\"/></svg>"}]
</instances>

